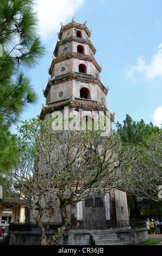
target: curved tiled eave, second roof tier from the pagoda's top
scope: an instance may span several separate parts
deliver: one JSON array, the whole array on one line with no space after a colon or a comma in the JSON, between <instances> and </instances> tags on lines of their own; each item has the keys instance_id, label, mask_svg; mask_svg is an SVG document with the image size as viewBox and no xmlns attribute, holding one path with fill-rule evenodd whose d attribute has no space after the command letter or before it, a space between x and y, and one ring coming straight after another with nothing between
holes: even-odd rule
<instances>
[{"instance_id":1,"label":"curved tiled eave, second roof tier from the pagoda's top","mask_svg":"<svg viewBox=\"0 0 162 256\"><path fill-rule=\"evenodd\" d=\"M90 41L89 39L78 38L78 36L72 35L72 36L69 36L68 38L65 38L65 39L60 40L60 41L57 42L57 45L55 46L55 49L54 49L54 51L53 51L54 56L56 56L56 53L57 53L57 51L58 51L58 47L59 47L60 45L63 45L63 44L65 44L66 42L71 42L71 41L86 42L86 44L88 44L88 45L90 46L90 48L91 48L91 50L94 52L94 54L96 53L96 48L92 45L92 43L91 43L91 41Z\"/></svg>"}]
</instances>

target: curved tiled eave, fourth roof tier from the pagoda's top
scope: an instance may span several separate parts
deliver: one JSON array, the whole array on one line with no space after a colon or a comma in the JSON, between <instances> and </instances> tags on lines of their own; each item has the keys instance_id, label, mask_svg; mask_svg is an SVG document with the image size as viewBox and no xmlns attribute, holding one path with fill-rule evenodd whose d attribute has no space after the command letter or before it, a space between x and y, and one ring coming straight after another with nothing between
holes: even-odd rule
<instances>
[{"instance_id":1,"label":"curved tiled eave, fourth roof tier from the pagoda's top","mask_svg":"<svg viewBox=\"0 0 162 256\"><path fill-rule=\"evenodd\" d=\"M61 83L61 82L67 81L67 80L72 80L72 79L77 79L79 81L85 81L85 82L90 82L90 83L93 81L94 83L98 84L98 86L102 89L102 91L105 95L107 95L107 93L108 93L107 88L104 87L104 85L101 83L101 81L98 79L97 76L72 71L65 75L51 78L47 83L47 86L46 86L45 91L43 92L43 95L45 97L47 97L50 87L53 86L54 84Z\"/></svg>"}]
</instances>

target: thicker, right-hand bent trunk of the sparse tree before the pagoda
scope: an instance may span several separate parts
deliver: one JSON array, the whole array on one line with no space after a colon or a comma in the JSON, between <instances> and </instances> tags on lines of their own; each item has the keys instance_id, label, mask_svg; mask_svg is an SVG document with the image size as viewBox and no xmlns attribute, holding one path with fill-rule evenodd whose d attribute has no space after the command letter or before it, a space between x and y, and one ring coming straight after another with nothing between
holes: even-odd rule
<instances>
[{"instance_id":1,"label":"thicker, right-hand bent trunk of the sparse tree before the pagoda","mask_svg":"<svg viewBox=\"0 0 162 256\"><path fill-rule=\"evenodd\" d=\"M66 228L68 227L69 221L67 219L66 202L64 200L60 200L60 213L63 224L57 229L55 235L52 236L52 239L47 243L47 245L57 245L61 236L64 235Z\"/></svg>"}]
</instances>

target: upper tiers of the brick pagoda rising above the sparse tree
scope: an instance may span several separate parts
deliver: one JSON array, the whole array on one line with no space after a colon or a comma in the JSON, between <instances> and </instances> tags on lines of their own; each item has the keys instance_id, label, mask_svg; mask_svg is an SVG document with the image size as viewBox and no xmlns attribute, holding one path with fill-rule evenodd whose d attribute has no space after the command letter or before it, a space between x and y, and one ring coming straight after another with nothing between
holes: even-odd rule
<instances>
[{"instance_id":1,"label":"upper tiers of the brick pagoda rising above the sparse tree","mask_svg":"<svg viewBox=\"0 0 162 256\"><path fill-rule=\"evenodd\" d=\"M65 26L61 24L48 70L48 83L43 90L46 105L43 105L40 119L68 107L70 117L76 114L95 121L101 113L107 113L109 120L114 120L107 109L108 87L100 81L102 68L95 60L96 48L90 36L86 22L82 25L73 19Z\"/></svg>"}]
</instances>

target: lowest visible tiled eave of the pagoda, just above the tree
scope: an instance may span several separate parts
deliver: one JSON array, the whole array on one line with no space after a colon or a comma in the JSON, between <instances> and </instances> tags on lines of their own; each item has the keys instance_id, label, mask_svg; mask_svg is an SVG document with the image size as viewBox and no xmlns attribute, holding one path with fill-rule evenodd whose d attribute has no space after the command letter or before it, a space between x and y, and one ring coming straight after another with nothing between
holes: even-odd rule
<instances>
[{"instance_id":1,"label":"lowest visible tiled eave of the pagoda, just above the tree","mask_svg":"<svg viewBox=\"0 0 162 256\"><path fill-rule=\"evenodd\" d=\"M63 107L68 106L68 107L78 107L79 109L89 109L89 110L95 110L97 111L103 111L103 112L109 112L110 111L107 109L107 107L104 106L102 103L98 103L96 101L87 101L83 99L75 99L75 98L70 98L66 99L64 101L59 101L56 102L52 105L49 106L43 106L42 111L40 113L39 118L43 120L45 118L46 114L53 113L54 111L58 111L59 109L63 109ZM110 120L114 121L114 115L110 113Z\"/></svg>"}]
</instances>

